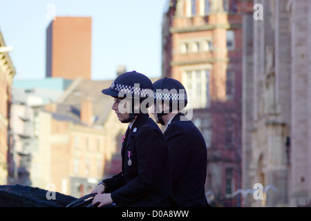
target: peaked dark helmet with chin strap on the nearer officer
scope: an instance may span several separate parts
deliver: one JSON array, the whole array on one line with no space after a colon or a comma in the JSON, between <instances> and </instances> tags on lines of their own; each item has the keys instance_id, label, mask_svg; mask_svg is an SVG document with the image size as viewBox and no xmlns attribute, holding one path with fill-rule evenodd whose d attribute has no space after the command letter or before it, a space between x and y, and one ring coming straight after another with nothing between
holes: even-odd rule
<instances>
[{"instance_id":1,"label":"peaked dark helmet with chin strap on the nearer officer","mask_svg":"<svg viewBox=\"0 0 311 221\"><path fill-rule=\"evenodd\" d=\"M151 97L153 99L153 84L146 75L133 70L119 75L109 88L102 90L102 93L116 98L132 98L132 111L128 119L130 122L137 115L134 113L134 99L139 99L140 102Z\"/></svg>"}]
</instances>

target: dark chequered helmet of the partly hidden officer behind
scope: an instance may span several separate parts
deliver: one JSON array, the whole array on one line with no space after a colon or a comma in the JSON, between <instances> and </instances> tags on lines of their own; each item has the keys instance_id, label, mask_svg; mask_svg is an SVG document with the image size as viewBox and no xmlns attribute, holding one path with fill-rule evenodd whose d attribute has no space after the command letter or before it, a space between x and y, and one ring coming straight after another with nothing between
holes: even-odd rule
<instances>
[{"instance_id":1,"label":"dark chequered helmet of the partly hidden officer behind","mask_svg":"<svg viewBox=\"0 0 311 221\"><path fill-rule=\"evenodd\" d=\"M154 102L168 102L169 113L178 110L181 111L188 104L187 92L185 87L176 79L164 77L153 83ZM157 111L159 122L164 125L162 116L167 113Z\"/></svg>"}]
</instances>

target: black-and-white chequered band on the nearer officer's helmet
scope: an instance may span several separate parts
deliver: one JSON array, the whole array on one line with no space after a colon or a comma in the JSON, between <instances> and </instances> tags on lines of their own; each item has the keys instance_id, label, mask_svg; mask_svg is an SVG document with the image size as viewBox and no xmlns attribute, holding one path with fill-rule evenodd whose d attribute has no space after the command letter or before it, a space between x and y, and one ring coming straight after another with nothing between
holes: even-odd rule
<instances>
[{"instance_id":1,"label":"black-and-white chequered band on the nearer officer's helmet","mask_svg":"<svg viewBox=\"0 0 311 221\"><path fill-rule=\"evenodd\" d=\"M113 81L110 88L111 90L115 90L117 93L130 93L132 95L138 95L139 97L153 97L153 90L140 88L139 84L129 86L124 84L115 84L115 81Z\"/></svg>"}]
</instances>

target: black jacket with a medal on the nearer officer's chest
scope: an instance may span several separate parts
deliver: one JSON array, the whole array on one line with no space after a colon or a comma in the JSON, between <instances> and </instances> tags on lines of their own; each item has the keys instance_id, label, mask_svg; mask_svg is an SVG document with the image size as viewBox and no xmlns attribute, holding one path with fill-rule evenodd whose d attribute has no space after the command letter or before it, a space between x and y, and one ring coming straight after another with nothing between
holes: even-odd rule
<instances>
[{"instance_id":1,"label":"black jacket with a medal on the nearer officer's chest","mask_svg":"<svg viewBox=\"0 0 311 221\"><path fill-rule=\"evenodd\" d=\"M122 172L103 180L117 206L173 206L169 149L148 114L138 115L126 131L121 155Z\"/></svg>"}]
</instances>

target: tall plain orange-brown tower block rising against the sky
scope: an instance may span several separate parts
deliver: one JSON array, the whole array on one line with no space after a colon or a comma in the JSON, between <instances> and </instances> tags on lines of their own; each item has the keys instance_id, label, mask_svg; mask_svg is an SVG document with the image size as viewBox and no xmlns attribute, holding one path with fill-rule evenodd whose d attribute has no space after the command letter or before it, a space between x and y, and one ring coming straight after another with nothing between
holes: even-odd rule
<instances>
[{"instance_id":1,"label":"tall plain orange-brown tower block rising against the sky","mask_svg":"<svg viewBox=\"0 0 311 221\"><path fill-rule=\"evenodd\" d=\"M46 29L46 77L91 79L91 17L55 17Z\"/></svg>"}]
</instances>

